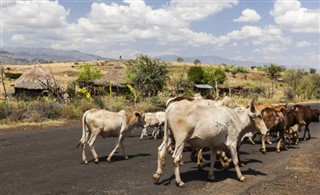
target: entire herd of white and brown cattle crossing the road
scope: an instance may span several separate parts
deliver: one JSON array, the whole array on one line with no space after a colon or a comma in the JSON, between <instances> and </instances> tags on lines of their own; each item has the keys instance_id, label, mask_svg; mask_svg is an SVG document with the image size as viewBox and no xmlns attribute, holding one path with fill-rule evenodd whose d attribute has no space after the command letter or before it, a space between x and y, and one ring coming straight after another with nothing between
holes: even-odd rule
<instances>
[{"instance_id":1,"label":"entire herd of white and brown cattle crossing the road","mask_svg":"<svg viewBox=\"0 0 320 195\"><path fill-rule=\"evenodd\" d=\"M170 153L174 165L176 184L184 185L180 178L179 166L182 164L182 153L185 144L193 148L197 154L198 166L201 166L202 148L210 148L211 165L208 179L214 179L214 162L220 159L223 166L228 166L232 161L237 177L243 181L239 165L239 147L244 138L249 138L252 143L255 134L260 134L262 148L266 153L265 141L269 144L269 136L277 136L276 151L280 152L281 146L287 149L287 141L295 144L299 141L301 126L305 126L303 139L310 139L309 124L319 122L320 110L311 109L310 106L294 105L254 105L251 100L249 105L239 105L231 98L225 97L216 101L204 98L171 98L166 103L165 112L140 113L137 111L110 112L103 109L91 109L84 113L82 118L82 137L77 147L82 146L82 160L88 163L85 147L89 146L94 161L98 163L98 155L94 149L94 142L100 135L105 137L118 137L116 145L108 155L107 161L111 162L113 154L119 146L123 156L127 159L123 140L135 127L143 127L140 139L148 138L147 128L154 127L152 136L156 139L163 134L163 142L158 147L158 166L153 175L157 183L165 167L167 153ZM163 130L161 127L164 126ZM306 137L306 133L308 136ZM174 145L174 149L173 149ZM230 156L229 159L227 156Z\"/></svg>"}]
</instances>

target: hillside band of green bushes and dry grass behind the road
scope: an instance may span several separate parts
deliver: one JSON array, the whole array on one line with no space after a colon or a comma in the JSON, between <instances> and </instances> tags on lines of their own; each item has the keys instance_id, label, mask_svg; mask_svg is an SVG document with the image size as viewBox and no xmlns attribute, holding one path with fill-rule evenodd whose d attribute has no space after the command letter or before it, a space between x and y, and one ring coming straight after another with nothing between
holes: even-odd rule
<instances>
[{"instance_id":1,"label":"hillside band of green bushes and dry grass behind the road","mask_svg":"<svg viewBox=\"0 0 320 195\"><path fill-rule=\"evenodd\" d=\"M69 98L64 102L57 102L55 98L38 97L32 101L7 98L14 82L14 76L23 72L15 72L2 66L2 85L0 100L0 124L18 122L43 122L56 119L80 119L83 112L91 108L103 108L110 111L121 109L140 111L159 111L165 109L165 102L169 97L193 95L194 84L209 84L214 86L212 94L220 86L240 86L250 90L250 96L258 98L258 103L276 103L281 101L308 101L320 99L320 75L315 70L285 69L276 64L251 69L234 65L205 65L197 63L187 64L183 59L176 63L165 63L140 54L136 59L125 62L126 77L130 81L127 85L128 93L116 96L106 90L106 95L83 92L76 81L94 81L100 79L106 70L110 70L109 63L85 63L73 66L72 71L61 71L64 77L58 82L66 82L64 91ZM51 65L53 66L53 65ZM75 75L72 78L65 74ZM71 74L72 73L72 74ZM53 74L58 74L53 71ZM55 75L57 77L57 75ZM82 91L81 91L82 90ZM5 91L5 92L4 92ZM9 93L7 93L9 91ZM230 90L228 94L239 102L241 96L235 96ZM5 98L4 98L5 97ZM88 98L90 97L90 98ZM246 97L248 98L248 97Z\"/></svg>"}]
</instances>

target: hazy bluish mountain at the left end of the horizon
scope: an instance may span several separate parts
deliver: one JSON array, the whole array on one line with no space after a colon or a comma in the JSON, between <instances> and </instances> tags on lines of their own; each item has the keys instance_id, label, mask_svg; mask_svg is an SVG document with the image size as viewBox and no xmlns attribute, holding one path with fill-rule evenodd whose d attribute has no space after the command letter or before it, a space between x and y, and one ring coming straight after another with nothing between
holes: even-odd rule
<instances>
[{"instance_id":1,"label":"hazy bluish mountain at the left end of the horizon","mask_svg":"<svg viewBox=\"0 0 320 195\"><path fill-rule=\"evenodd\" d=\"M47 63L49 61L106 60L104 57L86 54L80 51L64 51L50 48L2 48L0 55L1 64L34 64L37 61Z\"/></svg>"}]
</instances>

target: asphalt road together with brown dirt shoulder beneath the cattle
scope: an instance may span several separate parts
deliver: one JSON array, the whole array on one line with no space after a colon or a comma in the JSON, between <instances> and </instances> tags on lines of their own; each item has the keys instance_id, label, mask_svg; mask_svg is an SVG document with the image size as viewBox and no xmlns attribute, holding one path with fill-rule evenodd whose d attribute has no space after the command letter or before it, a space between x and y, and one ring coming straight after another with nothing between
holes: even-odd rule
<instances>
[{"instance_id":1,"label":"asphalt road together with brown dirt shoulder beneath the cattle","mask_svg":"<svg viewBox=\"0 0 320 195\"><path fill-rule=\"evenodd\" d=\"M233 168L221 170L218 163L216 181L208 182L209 164L198 171L186 151L180 169L186 184L183 189L175 185L169 156L161 183L153 183L161 140L140 141L141 129L125 140L128 160L120 152L107 163L115 138L98 138L95 148L100 163L88 165L81 164L81 150L75 148L81 137L80 122L67 127L0 131L0 194L315 194L320 191L320 124L313 123L310 129L311 140L281 153L275 152L275 144L267 146L265 155L259 144L243 144L240 155L247 164L241 168L246 177L243 183L236 180ZM90 151L87 156L92 159ZM205 157L209 160L209 152Z\"/></svg>"}]
</instances>

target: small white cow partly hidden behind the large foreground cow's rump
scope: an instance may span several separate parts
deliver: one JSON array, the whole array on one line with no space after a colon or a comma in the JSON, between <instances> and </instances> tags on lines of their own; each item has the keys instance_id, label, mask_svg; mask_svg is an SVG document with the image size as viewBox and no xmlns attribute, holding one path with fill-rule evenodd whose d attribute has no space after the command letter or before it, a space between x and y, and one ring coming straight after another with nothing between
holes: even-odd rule
<instances>
[{"instance_id":1,"label":"small white cow partly hidden behind the large foreground cow's rump","mask_svg":"<svg viewBox=\"0 0 320 195\"><path fill-rule=\"evenodd\" d=\"M145 136L148 139L147 128L154 127L152 136L154 139L157 139L157 136L160 134L161 126L164 125L165 112L147 112L143 114L143 129L141 132L140 139L143 139Z\"/></svg>"}]
</instances>

